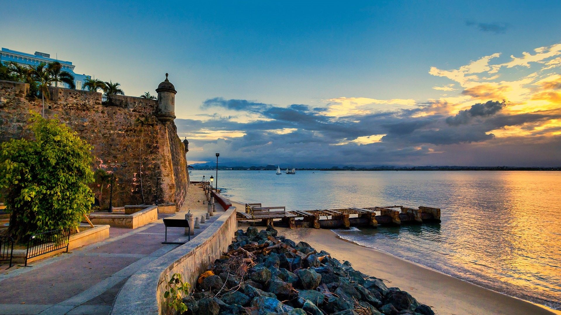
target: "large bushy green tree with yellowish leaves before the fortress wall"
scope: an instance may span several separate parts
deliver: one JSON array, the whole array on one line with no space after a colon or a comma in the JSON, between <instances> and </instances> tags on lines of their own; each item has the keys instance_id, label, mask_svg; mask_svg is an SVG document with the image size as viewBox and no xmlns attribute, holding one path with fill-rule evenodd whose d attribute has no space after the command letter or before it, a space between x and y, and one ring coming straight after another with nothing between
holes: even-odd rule
<instances>
[{"instance_id":1,"label":"large bushy green tree with yellowish leaves before the fortress wall","mask_svg":"<svg viewBox=\"0 0 561 315\"><path fill-rule=\"evenodd\" d=\"M34 114L30 123L33 138L0 144L0 197L16 242L76 228L94 202L92 147L57 119Z\"/></svg>"}]
</instances>

